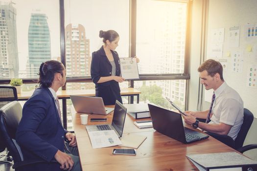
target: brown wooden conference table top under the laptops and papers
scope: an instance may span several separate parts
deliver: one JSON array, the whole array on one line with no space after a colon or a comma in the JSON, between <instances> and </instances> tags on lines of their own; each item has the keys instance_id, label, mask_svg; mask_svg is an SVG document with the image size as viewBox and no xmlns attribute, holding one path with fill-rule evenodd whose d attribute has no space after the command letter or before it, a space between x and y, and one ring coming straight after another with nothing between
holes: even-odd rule
<instances>
[{"instance_id":1,"label":"brown wooden conference table top under the laptops and papers","mask_svg":"<svg viewBox=\"0 0 257 171\"><path fill-rule=\"evenodd\" d=\"M186 154L235 151L212 137L191 144L183 144L153 128L137 128L133 124L135 119L127 114L123 134L137 134L147 136L147 138L137 149L136 156L113 155L114 148L125 147L92 149L85 125L80 123L80 114L82 113L76 113L73 109L73 128L83 171L197 171L187 159ZM103 122L91 123L90 118L104 117L107 117L107 123L104 122L104 124L111 124L113 113L107 116L89 114L88 124L103 124Z\"/></svg>"}]
</instances>

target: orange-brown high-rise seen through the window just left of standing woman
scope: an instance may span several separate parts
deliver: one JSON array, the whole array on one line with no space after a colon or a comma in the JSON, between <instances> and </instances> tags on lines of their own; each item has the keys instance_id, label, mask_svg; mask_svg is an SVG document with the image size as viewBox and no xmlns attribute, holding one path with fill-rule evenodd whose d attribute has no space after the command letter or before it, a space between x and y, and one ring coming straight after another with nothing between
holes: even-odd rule
<instances>
[{"instance_id":1,"label":"orange-brown high-rise seen through the window just left of standing woman","mask_svg":"<svg viewBox=\"0 0 257 171\"><path fill-rule=\"evenodd\" d=\"M81 24L65 27L66 73L67 77L90 76L92 57L90 40L86 39L85 28ZM93 84L67 83L67 89L93 89Z\"/></svg>"}]
</instances>

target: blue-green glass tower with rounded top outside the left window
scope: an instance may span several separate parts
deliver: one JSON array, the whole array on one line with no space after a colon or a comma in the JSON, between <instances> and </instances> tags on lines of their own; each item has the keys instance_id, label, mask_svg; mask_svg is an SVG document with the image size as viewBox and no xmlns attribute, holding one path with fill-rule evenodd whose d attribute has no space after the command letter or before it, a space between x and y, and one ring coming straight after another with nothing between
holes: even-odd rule
<instances>
[{"instance_id":1,"label":"blue-green glass tower with rounded top outside the left window","mask_svg":"<svg viewBox=\"0 0 257 171\"><path fill-rule=\"evenodd\" d=\"M40 64L51 60L51 42L46 14L32 13L28 27L28 78L37 78Z\"/></svg>"}]
</instances>

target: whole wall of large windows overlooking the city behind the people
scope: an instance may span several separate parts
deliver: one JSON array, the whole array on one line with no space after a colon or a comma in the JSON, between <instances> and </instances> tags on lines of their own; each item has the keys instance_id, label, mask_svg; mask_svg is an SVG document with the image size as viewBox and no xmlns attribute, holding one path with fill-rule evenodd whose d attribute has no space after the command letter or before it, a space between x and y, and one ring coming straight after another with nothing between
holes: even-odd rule
<instances>
[{"instance_id":1,"label":"whole wall of large windows overlooking the city behind the people","mask_svg":"<svg viewBox=\"0 0 257 171\"><path fill-rule=\"evenodd\" d=\"M135 54L140 59L140 80L130 81L142 92L140 103L170 108L167 96L184 108L184 79L189 79L187 5L187 0L0 0L0 82L25 78L29 84L23 85L23 91L32 90L40 64L53 59L66 61L66 89L94 89L92 52L103 45L99 31L113 29L120 36L119 57ZM60 16L63 7L65 13L61 10ZM65 37L61 48L66 49L62 57L60 19ZM128 81L119 85L121 89L130 86ZM127 98L122 100L128 103ZM67 101L71 129L70 106Z\"/></svg>"}]
</instances>

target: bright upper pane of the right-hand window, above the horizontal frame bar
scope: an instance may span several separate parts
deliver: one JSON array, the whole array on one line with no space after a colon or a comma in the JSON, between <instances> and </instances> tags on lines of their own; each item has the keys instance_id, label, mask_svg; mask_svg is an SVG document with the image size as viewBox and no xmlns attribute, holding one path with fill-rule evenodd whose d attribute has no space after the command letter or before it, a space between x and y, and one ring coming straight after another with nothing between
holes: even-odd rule
<instances>
[{"instance_id":1,"label":"bright upper pane of the right-hand window, above the horizontal frame bar","mask_svg":"<svg viewBox=\"0 0 257 171\"><path fill-rule=\"evenodd\" d=\"M187 3L137 0L140 74L183 73Z\"/></svg>"}]
</instances>

